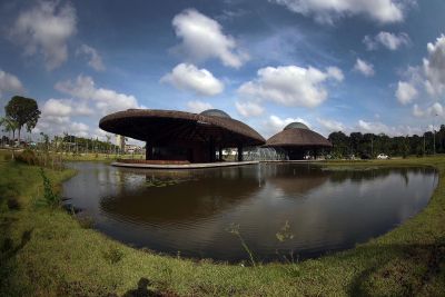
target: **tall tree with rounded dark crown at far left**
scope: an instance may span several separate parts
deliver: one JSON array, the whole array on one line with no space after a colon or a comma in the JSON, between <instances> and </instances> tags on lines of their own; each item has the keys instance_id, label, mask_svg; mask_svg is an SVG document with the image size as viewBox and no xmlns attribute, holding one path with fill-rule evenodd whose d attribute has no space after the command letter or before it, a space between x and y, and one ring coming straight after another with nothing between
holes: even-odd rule
<instances>
[{"instance_id":1,"label":"tall tree with rounded dark crown at far left","mask_svg":"<svg viewBox=\"0 0 445 297\"><path fill-rule=\"evenodd\" d=\"M18 125L20 145L20 130L24 125L29 132L36 127L41 113L39 107L34 99L14 96L4 107L4 111L7 117Z\"/></svg>"}]
</instances>

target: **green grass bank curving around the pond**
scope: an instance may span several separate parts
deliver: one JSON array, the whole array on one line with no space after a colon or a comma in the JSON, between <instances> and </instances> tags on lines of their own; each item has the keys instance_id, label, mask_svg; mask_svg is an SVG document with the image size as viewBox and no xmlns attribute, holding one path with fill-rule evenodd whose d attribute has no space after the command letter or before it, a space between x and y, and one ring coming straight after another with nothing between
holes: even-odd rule
<instances>
[{"instance_id":1,"label":"green grass bank curving around the pond","mask_svg":"<svg viewBox=\"0 0 445 297\"><path fill-rule=\"evenodd\" d=\"M135 249L62 210L36 208L39 168L3 157L0 296L444 296L445 158L326 162L343 169L413 165L434 166L441 179L428 206L403 226L317 259L244 267ZM52 185L72 174L47 171ZM8 208L11 198L18 209Z\"/></svg>"}]
</instances>

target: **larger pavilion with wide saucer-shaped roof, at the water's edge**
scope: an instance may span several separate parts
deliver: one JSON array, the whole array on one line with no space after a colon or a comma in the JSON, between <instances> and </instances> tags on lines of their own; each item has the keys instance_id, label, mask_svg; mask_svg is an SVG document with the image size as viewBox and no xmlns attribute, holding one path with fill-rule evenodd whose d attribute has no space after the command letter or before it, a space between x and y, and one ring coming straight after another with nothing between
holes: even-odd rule
<instances>
[{"instance_id":1,"label":"larger pavilion with wide saucer-shaped roof, at the water's edge","mask_svg":"<svg viewBox=\"0 0 445 297\"><path fill-rule=\"evenodd\" d=\"M146 160L215 162L221 160L224 148L237 148L237 159L243 161L245 147L266 142L253 128L218 109L201 113L128 109L103 117L99 127L146 141Z\"/></svg>"}]
</instances>

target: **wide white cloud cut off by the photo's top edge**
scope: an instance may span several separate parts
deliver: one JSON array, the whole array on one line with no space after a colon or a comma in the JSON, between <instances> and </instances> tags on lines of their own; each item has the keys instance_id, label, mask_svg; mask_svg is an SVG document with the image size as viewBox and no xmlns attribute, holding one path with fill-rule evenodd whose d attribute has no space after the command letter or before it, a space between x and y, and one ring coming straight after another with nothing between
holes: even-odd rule
<instances>
[{"instance_id":1,"label":"wide white cloud cut off by the photo's top edge","mask_svg":"<svg viewBox=\"0 0 445 297\"><path fill-rule=\"evenodd\" d=\"M365 14L380 23L404 20L404 10L412 0L269 0L303 16L313 16L323 23L336 19Z\"/></svg>"}]
</instances>

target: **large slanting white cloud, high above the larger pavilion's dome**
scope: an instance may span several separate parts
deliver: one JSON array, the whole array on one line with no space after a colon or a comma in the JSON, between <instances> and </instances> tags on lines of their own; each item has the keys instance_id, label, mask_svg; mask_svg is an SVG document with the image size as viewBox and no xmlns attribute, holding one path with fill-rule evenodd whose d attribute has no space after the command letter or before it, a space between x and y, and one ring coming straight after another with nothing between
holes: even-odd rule
<instances>
[{"instance_id":1,"label":"large slanting white cloud, high above the larger pavilion's dome","mask_svg":"<svg viewBox=\"0 0 445 297\"><path fill-rule=\"evenodd\" d=\"M238 49L231 36L224 34L221 26L195 9L187 9L172 20L176 36L182 43L176 50L188 60L201 62L217 58L222 65L239 68L248 56Z\"/></svg>"}]
</instances>

